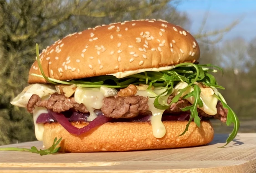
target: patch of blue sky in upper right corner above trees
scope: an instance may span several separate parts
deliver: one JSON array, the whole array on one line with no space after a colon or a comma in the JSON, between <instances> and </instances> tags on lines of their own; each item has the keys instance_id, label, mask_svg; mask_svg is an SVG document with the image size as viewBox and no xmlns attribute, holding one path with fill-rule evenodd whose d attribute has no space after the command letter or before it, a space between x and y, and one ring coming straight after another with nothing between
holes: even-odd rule
<instances>
[{"instance_id":1,"label":"patch of blue sky in upper right corner above trees","mask_svg":"<svg viewBox=\"0 0 256 173\"><path fill-rule=\"evenodd\" d=\"M191 33L196 33L201 22L209 10L208 20L204 31L223 29L235 20L241 20L223 39L242 37L246 41L256 37L256 1L194 1L183 0L177 10L186 12L191 21L187 28Z\"/></svg>"}]
</instances>

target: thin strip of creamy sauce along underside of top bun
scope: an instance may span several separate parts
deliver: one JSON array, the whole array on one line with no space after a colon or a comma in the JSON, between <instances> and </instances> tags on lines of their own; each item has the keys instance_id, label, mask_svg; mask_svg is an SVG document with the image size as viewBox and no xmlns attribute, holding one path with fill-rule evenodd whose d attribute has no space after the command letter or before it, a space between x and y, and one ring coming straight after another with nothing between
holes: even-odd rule
<instances>
[{"instance_id":1,"label":"thin strip of creamy sauce along underside of top bun","mask_svg":"<svg viewBox=\"0 0 256 173\"><path fill-rule=\"evenodd\" d=\"M146 69L138 69L138 70L127 70L124 72L117 72L117 73L112 73L109 75L113 75L117 78L123 78L127 77L129 75L137 74L137 73L142 73L145 71L165 71L165 70L170 70L173 69L175 66L166 66L166 67L153 67L153 68L146 68Z\"/></svg>"}]
</instances>

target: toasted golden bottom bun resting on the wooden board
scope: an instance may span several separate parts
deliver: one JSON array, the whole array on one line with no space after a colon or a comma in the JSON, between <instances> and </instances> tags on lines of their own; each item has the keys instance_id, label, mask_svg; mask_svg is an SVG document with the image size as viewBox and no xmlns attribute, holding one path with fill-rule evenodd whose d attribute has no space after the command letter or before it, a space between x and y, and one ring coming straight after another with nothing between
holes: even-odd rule
<instances>
[{"instance_id":1,"label":"toasted golden bottom bun resting on the wooden board","mask_svg":"<svg viewBox=\"0 0 256 173\"><path fill-rule=\"evenodd\" d=\"M162 138L153 136L149 122L105 123L80 136L68 133L59 123L46 123L43 144L48 148L53 144L55 137L62 137L60 152L101 152L191 147L208 144L213 140L214 131L210 121L201 121L200 128L191 122L183 136L179 135L186 128L188 121L163 123L166 134ZM73 123L77 128L87 124Z\"/></svg>"}]
</instances>

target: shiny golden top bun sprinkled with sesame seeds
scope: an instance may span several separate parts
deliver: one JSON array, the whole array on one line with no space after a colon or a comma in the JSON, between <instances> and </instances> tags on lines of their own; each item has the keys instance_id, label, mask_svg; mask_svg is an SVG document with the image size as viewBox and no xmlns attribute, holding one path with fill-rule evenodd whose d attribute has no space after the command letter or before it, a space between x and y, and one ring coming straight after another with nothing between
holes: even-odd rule
<instances>
[{"instance_id":1,"label":"shiny golden top bun sprinkled with sesame seeds","mask_svg":"<svg viewBox=\"0 0 256 173\"><path fill-rule=\"evenodd\" d=\"M163 20L133 20L69 34L40 54L47 77L81 79L130 70L194 63L196 40L179 26ZM41 75L37 61L29 74ZM29 83L46 83L29 75Z\"/></svg>"}]
</instances>

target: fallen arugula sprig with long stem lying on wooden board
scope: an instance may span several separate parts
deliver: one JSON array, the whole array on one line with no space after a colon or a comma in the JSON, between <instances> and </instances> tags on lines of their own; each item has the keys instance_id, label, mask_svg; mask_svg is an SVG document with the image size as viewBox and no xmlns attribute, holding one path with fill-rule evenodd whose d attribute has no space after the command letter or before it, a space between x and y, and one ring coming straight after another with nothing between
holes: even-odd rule
<instances>
[{"instance_id":1,"label":"fallen arugula sprig with long stem lying on wooden board","mask_svg":"<svg viewBox=\"0 0 256 173\"><path fill-rule=\"evenodd\" d=\"M0 151L26 151L31 153L38 153L41 156L43 156L43 155L57 153L60 150L60 147L57 147L57 145L60 143L61 140L62 140L62 137L59 140L57 139L57 137L55 137L52 146L45 150L41 150L41 149L38 150L35 146L33 146L30 149L15 148L15 147L0 148Z\"/></svg>"}]
</instances>

